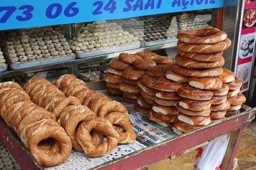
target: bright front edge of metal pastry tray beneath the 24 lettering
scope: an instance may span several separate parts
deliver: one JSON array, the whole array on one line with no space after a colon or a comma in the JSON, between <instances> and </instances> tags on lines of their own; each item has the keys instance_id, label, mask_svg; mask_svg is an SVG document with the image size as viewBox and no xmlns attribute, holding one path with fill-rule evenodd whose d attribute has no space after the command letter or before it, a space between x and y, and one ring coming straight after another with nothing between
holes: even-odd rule
<instances>
[{"instance_id":1,"label":"bright front edge of metal pastry tray beneath the 24 lettering","mask_svg":"<svg viewBox=\"0 0 256 170\"><path fill-rule=\"evenodd\" d=\"M136 48L140 48L140 46L141 46L140 43L136 43L133 45L116 46L113 48L97 50L97 51L93 51L93 52L76 53L76 56L77 56L77 59L83 59L83 58L92 57L95 55L104 55L106 53L114 53L114 52L122 52L122 51L126 51L126 50L133 50Z\"/></svg>"}]
</instances>

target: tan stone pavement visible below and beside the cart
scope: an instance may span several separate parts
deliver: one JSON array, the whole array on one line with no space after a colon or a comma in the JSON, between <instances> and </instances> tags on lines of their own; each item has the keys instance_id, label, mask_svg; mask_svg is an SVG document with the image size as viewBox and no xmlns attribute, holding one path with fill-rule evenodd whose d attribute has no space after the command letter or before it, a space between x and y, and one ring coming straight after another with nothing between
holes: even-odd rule
<instances>
[{"instance_id":1,"label":"tan stone pavement visible below and beside the cart","mask_svg":"<svg viewBox=\"0 0 256 170\"><path fill-rule=\"evenodd\" d=\"M190 170L194 169L196 151L181 157L164 159L141 170ZM239 165L236 170L256 170L256 120L244 130L243 138L236 154Z\"/></svg>"}]
</instances>

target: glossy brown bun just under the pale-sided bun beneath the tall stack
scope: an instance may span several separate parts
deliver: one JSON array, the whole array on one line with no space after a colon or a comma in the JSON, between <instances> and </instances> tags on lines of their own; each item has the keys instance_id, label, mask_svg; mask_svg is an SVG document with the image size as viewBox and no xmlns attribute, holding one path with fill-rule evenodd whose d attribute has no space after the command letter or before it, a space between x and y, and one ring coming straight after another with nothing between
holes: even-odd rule
<instances>
[{"instance_id":1,"label":"glossy brown bun just under the pale-sided bun beneath the tall stack","mask_svg":"<svg viewBox=\"0 0 256 170\"><path fill-rule=\"evenodd\" d=\"M198 101L207 101L213 96L212 92L209 90L196 89L188 84L182 85L182 87L178 89L178 94L180 97Z\"/></svg>"}]
</instances>

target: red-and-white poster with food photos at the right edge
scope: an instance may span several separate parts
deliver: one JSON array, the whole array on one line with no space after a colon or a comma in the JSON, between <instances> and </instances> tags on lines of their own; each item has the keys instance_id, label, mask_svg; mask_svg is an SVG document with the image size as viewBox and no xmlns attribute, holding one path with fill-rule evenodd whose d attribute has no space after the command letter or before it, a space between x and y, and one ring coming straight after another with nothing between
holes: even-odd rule
<instances>
[{"instance_id":1,"label":"red-and-white poster with food photos at the right edge","mask_svg":"<svg viewBox=\"0 0 256 170\"><path fill-rule=\"evenodd\" d=\"M256 1L244 0L241 11L241 26L237 44L235 74L243 81L241 92L250 88L255 53Z\"/></svg>"}]
</instances>

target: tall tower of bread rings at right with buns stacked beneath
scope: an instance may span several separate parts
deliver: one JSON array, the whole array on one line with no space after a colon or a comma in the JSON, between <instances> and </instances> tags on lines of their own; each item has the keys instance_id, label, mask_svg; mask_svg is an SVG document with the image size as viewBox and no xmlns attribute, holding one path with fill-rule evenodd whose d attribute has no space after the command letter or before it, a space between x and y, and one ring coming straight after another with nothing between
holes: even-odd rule
<instances>
[{"instance_id":1,"label":"tall tower of bread rings at right with buns stacked beneath","mask_svg":"<svg viewBox=\"0 0 256 170\"><path fill-rule=\"evenodd\" d=\"M228 101L227 97L237 96L241 86L237 85L238 78L232 71L222 68L225 64L223 50L231 45L225 32L212 27L191 29L180 31L177 38L176 64L166 77L173 81L188 81L177 91L179 115L174 122L175 128L187 132L225 118L232 100ZM234 90L229 90L227 83L236 84ZM243 99L232 103L232 110L239 109L245 101L243 94L238 96Z\"/></svg>"}]
</instances>

